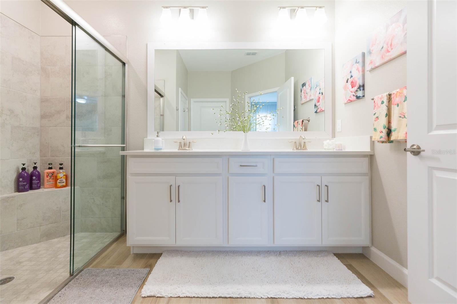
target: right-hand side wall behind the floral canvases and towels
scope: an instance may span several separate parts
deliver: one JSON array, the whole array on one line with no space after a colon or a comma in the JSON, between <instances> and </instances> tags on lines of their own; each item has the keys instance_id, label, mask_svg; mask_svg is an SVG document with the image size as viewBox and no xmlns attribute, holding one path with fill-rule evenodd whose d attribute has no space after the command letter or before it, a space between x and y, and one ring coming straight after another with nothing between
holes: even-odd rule
<instances>
[{"instance_id":1,"label":"right-hand side wall behind the floral canvases and towels","mask_svg":"<svg viewBox=\"0 0 457 304\"><path fill-rule=\"evenodd\" d=\"M376 26L406 6L407 1L335 1L336 137L372 135L372 97L406 85L406 55L365 73L365 98L343 104L342 65L366 52L366 38ZM335 124L336 126L336 124ZM372 243L407 267L405 143L375 142L372 172Z\"/></svg>"}]
</instances>

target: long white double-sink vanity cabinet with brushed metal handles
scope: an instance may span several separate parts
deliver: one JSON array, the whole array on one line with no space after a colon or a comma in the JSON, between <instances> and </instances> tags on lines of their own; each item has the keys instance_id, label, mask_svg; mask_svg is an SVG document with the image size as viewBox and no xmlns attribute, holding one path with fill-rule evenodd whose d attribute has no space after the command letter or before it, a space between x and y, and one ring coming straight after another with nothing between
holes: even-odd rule
<instances>
[{"instance_id":1,"label":"long white double-sink vanity cabinet with brushed metal handles","mask_svg":"<svg viewBox=\"0 0 457 304\"><path fill-rule=\"evenodd\" d=\"M370 246L369 152L122 153L133 252Z\"/></svg>"}]
</instances>

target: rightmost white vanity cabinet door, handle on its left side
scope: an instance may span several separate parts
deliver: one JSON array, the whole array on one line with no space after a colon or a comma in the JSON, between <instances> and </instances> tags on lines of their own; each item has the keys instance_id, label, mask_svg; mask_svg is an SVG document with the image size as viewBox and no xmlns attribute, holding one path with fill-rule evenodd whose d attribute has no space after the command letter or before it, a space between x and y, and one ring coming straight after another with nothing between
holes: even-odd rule
<instances>
[{"instance_id":1,"label":"rightmost white vanity cabinet door, handle on its left side","mask_svg":"<svg viewBox=\"0 0 457 304\"><path fill-rule=\"evenodd\" d=\"M322 177L322 199L322 244L369 245L367 176Z\"/></svg>"}]
</instances>

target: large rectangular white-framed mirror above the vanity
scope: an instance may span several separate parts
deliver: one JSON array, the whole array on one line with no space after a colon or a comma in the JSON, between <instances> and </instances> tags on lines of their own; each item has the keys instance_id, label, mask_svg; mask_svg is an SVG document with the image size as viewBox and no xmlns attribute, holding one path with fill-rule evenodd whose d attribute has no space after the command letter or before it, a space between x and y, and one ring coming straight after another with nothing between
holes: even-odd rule
<instances>
[{"instance_id":1,"label":"large rectangular white-framed mirror above the vanity","mask_svg":"<svg viewBox=\"0 0 457 304\"><path fill-rule=\"evenodd\" d=\"M333 137L331 53L329 42L148 43L148 138L239 137L226 120L246 112L252 138Z\"/></svg>"}]
</instances>

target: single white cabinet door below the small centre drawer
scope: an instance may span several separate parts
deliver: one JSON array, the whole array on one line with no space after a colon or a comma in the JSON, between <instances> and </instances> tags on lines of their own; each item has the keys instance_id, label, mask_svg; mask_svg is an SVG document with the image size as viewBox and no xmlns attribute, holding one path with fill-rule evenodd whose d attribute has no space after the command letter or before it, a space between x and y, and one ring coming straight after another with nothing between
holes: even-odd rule
<instances>
[{"instance_id":1,"label":"single white cabinet door below the small centre drawer","mask_svg":"<svg viewBox=\"0 0 457 304\"><path fill-rule=\"evenodd\" d=\"M267 177L228 178L228 243L266 245L268 243Z\"/></svg>"}]
</instances>

